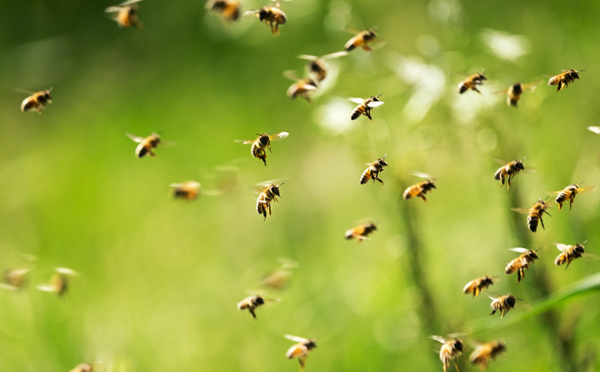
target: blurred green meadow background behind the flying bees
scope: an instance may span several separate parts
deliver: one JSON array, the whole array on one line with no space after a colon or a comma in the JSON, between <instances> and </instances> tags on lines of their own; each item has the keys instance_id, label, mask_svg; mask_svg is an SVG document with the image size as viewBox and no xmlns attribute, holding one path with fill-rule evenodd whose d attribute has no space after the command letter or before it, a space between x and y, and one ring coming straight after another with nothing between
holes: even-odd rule
<instances>
[{"instance_id":1,"label":"blurred green meadow background behind the flying bees","mask_svg":"<svg viewBox=\"0 0 600 372\"><path fill-rule=\"evenodd\" d=\"M584 259L554 266L552 243L587 239L600 254L600 192L555 206L535 236L510 211L570 183L600 185L600 136L586 129L600 117L600 3L294 0L276 37L255 17L225 25L202 1L142 1L144 28L120 30L111 5L0 2L0 269L32 268L28 286L0 292L0 371L95 360L113 372L297 371L285 333L321 337L311 372L441 371L427 337L454 332L507 341L490 371L600 366L594 292L512 322L599 271ZM386 44L332 61L312 104L286 97L282 72L303 73L297 55L341 50L344 29L372 26ZM543 74L570 68L587 71L554 93ZM483 94L458 95L483 69ZM491 94L538 80L517 109ZM15 89L50 86L42 115L19 111ZM351 122L345 98L378 93L373 122ZM124 133L153 131L176 145L135 158ZM234 140L268 131L290 136L264 167ZM385 185L359 185L384 154ZM527 156L537 171L507 192L492 156ZM411 171L438 178L428 203L402 200L419 181ZM289 180L263 222L248 187L274 178ZM224 193L169 197L189 179ZM345 241L365 218L379 227L372 240ZM503 274L515 246L544 248L518 286ZM289 285L261 287L279 257L298 263ZM57 266L81 273L62 299L35 290ZM461 292L481 275L524 300L502 321L485 293ZM264 292L281 302L258 321L236 310Z\"/></svg>"}]
</instances>

